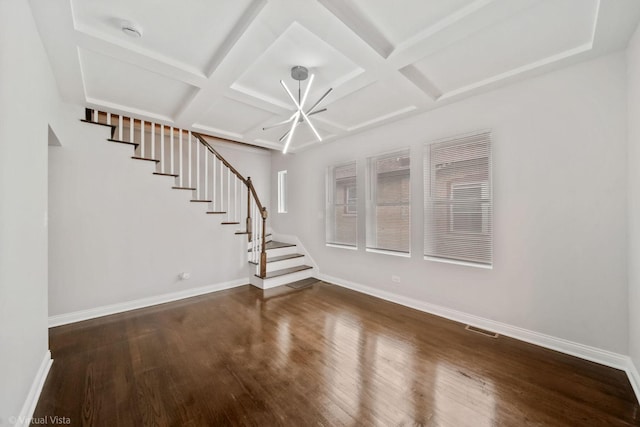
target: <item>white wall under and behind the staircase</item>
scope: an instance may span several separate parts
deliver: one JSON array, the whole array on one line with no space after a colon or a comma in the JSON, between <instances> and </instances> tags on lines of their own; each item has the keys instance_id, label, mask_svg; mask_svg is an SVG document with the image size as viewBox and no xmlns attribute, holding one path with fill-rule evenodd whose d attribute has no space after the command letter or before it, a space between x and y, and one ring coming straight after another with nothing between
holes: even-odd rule
<instances>
[{"instance_id":1,"label":"white wall under and behind the staircase","mask_svg":"<svg viewBox=\"0 0 640 427\"><path fill-rule=\"evenodd\" d=\"M80 107L65 114L62 147L50 149L50 315L248 283L246 236L234 235L244 219L221 225L190 191L172 190L173 178L153 175L153 163L130 159L131 146L108 142L107 128L81 123ZM221 151L269 185L268 152ZM180 281L181 272L191 279Z\"/></svg>"}]
</instances>

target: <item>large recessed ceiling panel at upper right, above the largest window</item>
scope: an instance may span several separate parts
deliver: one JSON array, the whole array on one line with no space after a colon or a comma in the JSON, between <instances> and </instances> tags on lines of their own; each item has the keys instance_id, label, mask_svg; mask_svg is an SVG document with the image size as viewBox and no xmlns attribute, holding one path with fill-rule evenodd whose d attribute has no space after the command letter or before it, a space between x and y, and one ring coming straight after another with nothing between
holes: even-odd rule
<instances>
[{"instance_id":1,"label":"large recessed ceiling panel at upper right, above the largest window","mask_svg":"<svg viewBox=\"0 0 640 427\"><path fill-rule=\"evenodd\" d=\"M477 84L592 41L597 0L539 2L414 64L443 92Z\"/></svg>"}]
</instances>

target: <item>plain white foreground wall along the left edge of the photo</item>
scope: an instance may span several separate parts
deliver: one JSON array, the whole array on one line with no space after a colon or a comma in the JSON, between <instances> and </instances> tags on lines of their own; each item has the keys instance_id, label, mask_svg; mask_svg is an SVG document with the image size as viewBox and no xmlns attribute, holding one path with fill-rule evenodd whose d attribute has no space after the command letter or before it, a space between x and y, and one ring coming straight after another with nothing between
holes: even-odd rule
<instances>
[{"instance_id":1,"label":"plain white foreground wall along the left edge of the photo","mask_svg":"<svg viewBox=\"0 0 640 427\"><path fill-rule=\"evenodd\" d=\"M48 350L47 125L58 94L26 1L0 1L0 41L2 424L20 415Z\"/></svg>"}]
</instances>

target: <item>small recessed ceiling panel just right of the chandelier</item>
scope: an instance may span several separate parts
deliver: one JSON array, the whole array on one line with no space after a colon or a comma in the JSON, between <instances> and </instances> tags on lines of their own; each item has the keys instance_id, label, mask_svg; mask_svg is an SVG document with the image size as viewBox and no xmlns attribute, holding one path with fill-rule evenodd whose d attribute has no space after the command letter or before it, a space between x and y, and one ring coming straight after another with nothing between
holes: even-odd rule
<instances>
[{"instance_id":1,"label":"small recessed ceiling panel just right of the chandelier","mask_svg":"<svg viewBox=\"0 0 640 427\"><path fill-rule=\"evenodd\" d=\"M319 120L327 119L338 126L356 129L413 109L415 107L408 105L399 92L377 82L329 105L327 111L318 117Z\"/></svg>"}]
</instances>

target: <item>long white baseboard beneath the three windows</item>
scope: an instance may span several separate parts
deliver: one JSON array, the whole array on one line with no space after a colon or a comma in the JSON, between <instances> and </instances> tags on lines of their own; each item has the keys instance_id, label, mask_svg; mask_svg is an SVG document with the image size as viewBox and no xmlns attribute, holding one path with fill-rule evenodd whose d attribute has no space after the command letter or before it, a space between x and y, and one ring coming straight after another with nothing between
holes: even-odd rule
<instances>
[{"instance_id":1,"label":"long white baseboard beneath the three windows","mask_svg":"<svg viewBox=\"0 0 640 427\"><path fill-rule=\"evenodd\" d=\"M627 372L629 369L630 359L628 356L622 354L613 353L596 347L591 347L562 338L553 337L551 335L545 335L539 332L530 331L528 329L508 325L506 323L496 322L495 320L485 319L483 317L474 316L462 311L453 310L447 307L442 307L414 298L405 297L359 283L342 280L337 277L332 277L325 274L320 274L318 279L426 313L435 314L436 316L444 317L449 320L476 326L478 328L497 332L501 335L515 338L520 341L525 341L531 344L538 345L540 347L545 347L551 350L559 351L561 353L569 354L571 356L576 356L581 359L589 360L591 362L596 362L601 365L609 366Z\"/></svg>"}]
</instances>

